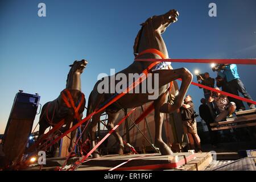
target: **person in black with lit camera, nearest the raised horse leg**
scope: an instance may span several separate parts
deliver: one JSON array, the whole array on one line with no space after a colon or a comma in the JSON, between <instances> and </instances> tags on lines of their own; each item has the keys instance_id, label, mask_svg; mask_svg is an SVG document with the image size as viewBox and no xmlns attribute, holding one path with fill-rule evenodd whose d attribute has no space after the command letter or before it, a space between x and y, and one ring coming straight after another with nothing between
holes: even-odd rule
<instances>
[{"instance_id":1,"label":"person in black with lit camera, nearest the raised horse leg","mask_svg":"<svg viewBox=\"0 0 256 182\"><path fill-rule=\"evenodd\" d=\"M211 78L208 72L204 73L204 75L197 76L197 82L205 86L214 88L214 81L215 81L214 78ZM201 89L200 86L199 88ZM208 101L208 98L210 96L210 90L207 90L207 89L203 89L203 90L204 90L204 98Z\"/></svg>"}]
</instances>

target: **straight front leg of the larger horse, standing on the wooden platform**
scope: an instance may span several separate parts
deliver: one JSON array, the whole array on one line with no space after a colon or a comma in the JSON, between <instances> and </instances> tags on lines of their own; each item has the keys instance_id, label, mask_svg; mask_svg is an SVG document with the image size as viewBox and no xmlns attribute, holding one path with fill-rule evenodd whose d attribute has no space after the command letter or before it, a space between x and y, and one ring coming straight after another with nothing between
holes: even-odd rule
<instances>
[{"instance_id":1,"label":"straight front leg of the larger horse, standing on the wooden platform","mask_svg":"<svg viewBox=\"0 0 256 182\"><path fill-rule=\"evenodd\" d=\"M155 146L159 147L162 155L172 155L173 152L162 139L162 127L164 113L160 113L160 107L168 100L168 91L154 101L155 106Z\"/></svg>"}]
</instances>

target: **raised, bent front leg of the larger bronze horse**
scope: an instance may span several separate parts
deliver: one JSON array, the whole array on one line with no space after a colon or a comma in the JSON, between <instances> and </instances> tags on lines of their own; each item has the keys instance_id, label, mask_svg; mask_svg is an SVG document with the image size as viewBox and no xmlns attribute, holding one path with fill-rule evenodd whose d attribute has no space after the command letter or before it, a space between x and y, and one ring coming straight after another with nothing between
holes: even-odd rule
<instances>
[{"instance_id":1,"label":"raised, bent front leg of the larger bronze horse","mask_svg":"<svg viewBox=\"0 0 256 182\"><path fill-rule=\"evenodd\" d=\"M171 81L182 79L181 86L179 89L179 94L176 96L174 104L165 103L160 107L161 113L172 113L173 111L179 109L183 104L185 94L188 91L188 87L191 84L193 75L188 71L187 68L179 69L160 69L154 71L153 73L159 74L159 87L168 84Z\"/></svg>"}]
</instances>

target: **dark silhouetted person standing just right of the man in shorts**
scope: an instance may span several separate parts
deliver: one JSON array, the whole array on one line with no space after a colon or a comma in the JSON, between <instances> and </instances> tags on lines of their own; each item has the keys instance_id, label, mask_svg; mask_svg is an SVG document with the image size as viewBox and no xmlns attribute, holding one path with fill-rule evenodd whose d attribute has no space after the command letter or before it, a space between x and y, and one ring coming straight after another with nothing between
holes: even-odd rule
<instances>
[{"instance_id":1,"label":"dark silhouetted person standing just right of the man in shorts","mask_svg":"<svg viewBox=\"0 0 256 182\"><path fill-rule=\"evenodd\" d=\"M199 115L202 119L204 119L205 123L207 124L208 131L210 134L210 143L212 144L213 148L217 148L217 131L212 131L210 129L210 123L214 122L214 118L210 113L210 108L207 105L207 101L205 98L201 98L201 105L199 106Z\"/></svg>"}]
</instances>

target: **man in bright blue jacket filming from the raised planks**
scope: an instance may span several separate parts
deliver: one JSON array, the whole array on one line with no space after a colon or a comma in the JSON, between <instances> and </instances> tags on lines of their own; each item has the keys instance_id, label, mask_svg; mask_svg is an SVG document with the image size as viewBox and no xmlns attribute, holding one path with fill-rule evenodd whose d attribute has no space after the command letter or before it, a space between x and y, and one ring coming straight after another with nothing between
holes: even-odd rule
<instances>
[{"instance_id":1,"label":"man in bright blue jacket filming from the raised planks","mask_svg":"<svg viewBox=\"0 0 256 182\"><path fill-rule=\"evenodd\" d=\"M226 77L226 81L228 82L230 91L232 94L237 94L238 91L243 95L243 97L253 100L249 93L246 92L245 86L243 85L242 80L240 79L240 76L237 72L237 65L236 64L224 64L224 67L222 67L223 71L218 71L218 76L221 76L222 78ZM250 109L255 109L254 104L247 103L250 107ZM243 107L242 101L237 103L238 110L245 110L245 107Z\"/></svg>"}]
</instances>

